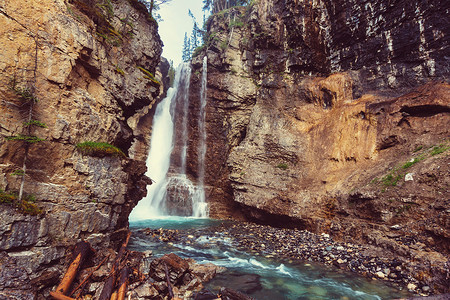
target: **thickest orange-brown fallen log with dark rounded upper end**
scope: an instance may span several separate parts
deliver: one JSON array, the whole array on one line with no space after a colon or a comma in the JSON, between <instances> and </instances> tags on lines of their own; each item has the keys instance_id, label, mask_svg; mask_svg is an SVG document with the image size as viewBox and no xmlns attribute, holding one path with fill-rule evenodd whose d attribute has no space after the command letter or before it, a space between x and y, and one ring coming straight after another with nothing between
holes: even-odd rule
<instances>
[{"instance_id":1,"label":"thickest orange-brown fallen log with dark rounded upper end","mask_svg":"<svg viewBox=\"0 0 450 300\"><path fill-rule=\"evenodd\" d=\"M75 248L73 250L73 260L67 268L66 274L64 274L61 283L56 288L56 294L65 295L67 293L77 275L79 268L81 267L81 265L83 265L86 257L88 257L91 252L93 252L93 250L88 242L81 241L75 245Z\"/></svg>"}]
</instances>

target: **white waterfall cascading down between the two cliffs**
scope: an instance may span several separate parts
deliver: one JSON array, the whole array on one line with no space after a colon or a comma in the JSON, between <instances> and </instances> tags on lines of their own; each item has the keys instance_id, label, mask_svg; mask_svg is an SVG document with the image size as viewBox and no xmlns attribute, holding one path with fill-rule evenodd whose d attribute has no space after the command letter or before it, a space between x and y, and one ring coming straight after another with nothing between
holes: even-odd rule
<instances>
[{"instance_id":1,"label":"white waterfall cascading down between the two cliffs","mask_svg":"<svg viewBox=\"0 0 450 300\"><path fill-rule=\"evenodd\" d=\"M131 212L130 220L132 221L170 215L208 216L204 188L206 57L203 60L201 96L199 99L198 182L196 185L186 174L190 76L191 68L188 64L178 67L174 87L168 90L167 97L156 107L146 173L154 183L147 187L147 196Z\"/></svg>"}]
</instances>

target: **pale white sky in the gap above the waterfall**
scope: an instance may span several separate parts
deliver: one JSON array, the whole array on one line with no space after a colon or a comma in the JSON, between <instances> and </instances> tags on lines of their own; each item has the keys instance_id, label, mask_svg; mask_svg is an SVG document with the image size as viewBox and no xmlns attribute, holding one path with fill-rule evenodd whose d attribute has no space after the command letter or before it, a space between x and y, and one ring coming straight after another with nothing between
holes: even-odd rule
<instances>
[{"instance_id":1,"label":"pale white sky in the gap above the waterfall","mask_svg":"<svg viewBox=\"0 0 450 300\"><path fill-rule=\"evenodd\" d=\"M191 35L193 22L188 14L189 9L197 19L197 23L203 25L202 0L172 0L161 5L158 13L163 21L159 22L159 35L163 40L163 54L168 60L173 60L174 66L182 62L181 51L184 42L184 33Z\"/></svg>"}]
</instances>

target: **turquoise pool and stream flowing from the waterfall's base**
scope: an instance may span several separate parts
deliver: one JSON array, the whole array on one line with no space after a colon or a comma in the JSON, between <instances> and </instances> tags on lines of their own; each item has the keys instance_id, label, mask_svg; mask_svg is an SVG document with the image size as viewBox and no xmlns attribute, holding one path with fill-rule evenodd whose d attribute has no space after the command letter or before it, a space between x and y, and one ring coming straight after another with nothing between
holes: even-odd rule
<instances>
[{"instance_id":1,"label":"turquoise pool and stream flowing from the waterfall's base","mask_svg":"<svg viewBox=\"0 0 450 300\"><path fill-rule=\"evenodd\" d=\"M193 258L198 263L213 263L226 268L206 284L218 293L220 287L244 292L258 300L278 299L395 299L408 296L405 291L393 288L382 281L368 280L354 273L320 265L310 261L281 259L270 253L277 249L255 251L249 247L255 239L243 241L242 235L258 234L243 225L241 237L233 235L236 222L208 218L160 217L130 222L132 238L129 248L135 251L152 250L154 257L175 253L183 258ZM143 233L143 229L160 229L174 235L169 241ZM280 231L283 229L271 230ZM290 231L289 231L290 232ZM277 235L277 234L275 234ZM262 239L260 239L262 240ZM286 245L279 244L280 249ZM261 249L260 249L261 250ZM274 250L274 251L272 251Z\"/></svg>"}]
</instances>

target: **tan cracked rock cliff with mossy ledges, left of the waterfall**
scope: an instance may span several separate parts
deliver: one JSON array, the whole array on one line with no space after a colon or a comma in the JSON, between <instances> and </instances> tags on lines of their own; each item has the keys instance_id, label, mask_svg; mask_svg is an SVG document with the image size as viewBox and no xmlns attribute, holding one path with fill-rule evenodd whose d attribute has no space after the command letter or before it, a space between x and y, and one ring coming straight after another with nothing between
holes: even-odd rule
<instances>
[{"instance_id":1,"label":"tan cracked rock cliff with mossy ledges, left of the waterfall","mask_svg":"<svg viewBox=\"0 0 450 300\"><path fill-rule=\"evenodd\" d=\"M16 296L27 299L58 280L65 246L117 240L145 195L147 145L138 124L160 93L150 73L162 42L134 0L7 0L0 24L0 189L19 190L12 173L26 159L24 191L43 211L24 215L1 204L0 295L28 289ZM38 99L33 109L27 93ZM9 139L25 134L30 112L46 128L31 129L44 140L26 153L26 143ZM75 145L86 141L113 144L128 158L83 155Z\"/></svg>"}]
</instances>

